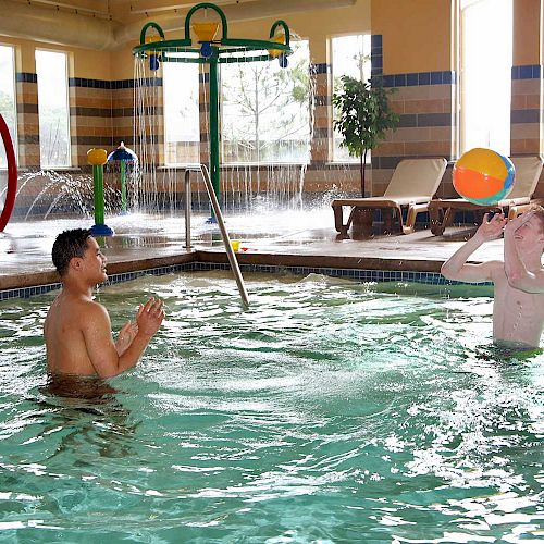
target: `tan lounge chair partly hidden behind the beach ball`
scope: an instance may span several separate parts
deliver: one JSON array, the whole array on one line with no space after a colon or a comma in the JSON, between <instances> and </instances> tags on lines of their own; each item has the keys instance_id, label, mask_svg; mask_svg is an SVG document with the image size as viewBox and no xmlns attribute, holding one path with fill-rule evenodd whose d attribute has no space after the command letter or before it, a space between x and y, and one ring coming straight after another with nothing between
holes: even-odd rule
<instances>
[{"instance_id":1,"label":"tan lounge chair partly hidden behind the beach ball","mask_svg":"<svg viewBox=\"0 0 544 544\"><path fill-rule=\"evenodd\" d=\"M523 213L531 203L542 203L542 199L531 200L542 172L542 159L540 157L511 157L510 160L516 169L516 181L508 198L500 200L496 206L480 206L463 198L433 200L429 205L431 232L435 236L444 234L446 226L450 226L454 222L456 211L474 212L475 222L480 223L486 212L508 212L508 219L514 219Z\"/></svg>"}]
</instances>

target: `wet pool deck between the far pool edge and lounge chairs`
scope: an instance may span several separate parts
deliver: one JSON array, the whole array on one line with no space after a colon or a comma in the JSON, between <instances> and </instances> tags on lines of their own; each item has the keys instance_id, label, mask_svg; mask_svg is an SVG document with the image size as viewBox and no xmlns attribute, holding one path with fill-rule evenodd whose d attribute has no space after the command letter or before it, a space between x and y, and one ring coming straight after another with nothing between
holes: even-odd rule
<instances>
[{"instance_id":1,"label":"wet pool deck between the far pool edge and lounge chairs","mask_svg":"<svg viewBox=\"0 0 544 544\"><path fill-rule=\"evenodd\" d=\"M429 228L409 235L338 239L331 210L226 217L232 239L240 240L242 264L361 270L440 272L442 263L474 228L450 227L443 236ZM103 239L108 273L123 273L183 262L227 262L217 225L193 219L191 245L185 247L184 219L132 217L111 220L115 236ZM91 224L91 222L90 222ZM51 263L54 237L89 221L12 222L0 233L0 290L57 283ZM111 224L111 223L109 223ZM478 249L472 262L503 258L503 242Z\"/></svg>"}]
</instances>

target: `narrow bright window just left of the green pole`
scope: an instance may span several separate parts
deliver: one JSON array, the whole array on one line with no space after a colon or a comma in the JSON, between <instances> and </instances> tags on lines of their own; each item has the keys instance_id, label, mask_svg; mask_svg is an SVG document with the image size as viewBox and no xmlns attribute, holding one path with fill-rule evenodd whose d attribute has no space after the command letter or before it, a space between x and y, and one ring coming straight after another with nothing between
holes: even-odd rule
<instances>
[{"instance_id":1,"label":"narrow bright window just left of the green pole","mask_svg":"<svg viewBox=\"0 0 544 544\"><path fill-rule=\"evenodd\" d=\"M164 162L200 162L198 66L185 62L162 64L164 88Z\"/></svg>"}]
</instances>

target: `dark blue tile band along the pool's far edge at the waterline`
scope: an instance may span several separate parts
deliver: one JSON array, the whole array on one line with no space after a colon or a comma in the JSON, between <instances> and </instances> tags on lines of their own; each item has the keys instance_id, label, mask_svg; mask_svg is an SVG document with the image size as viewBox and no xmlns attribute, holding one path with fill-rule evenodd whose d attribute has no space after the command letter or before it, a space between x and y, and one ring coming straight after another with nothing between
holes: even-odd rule
<instances>
[{"instance_id":1,"label":"dark blue tile band along the pool's far edge at the waterline","mask_svg":"<svg viewBox=\"0 0 544 544\"><path fill-rule=\"evenodd\" d=\"M111 274L107 285L129 282L144 275L165 275L176 272L201 272L208 270L231 270L228 263L218 262L185 262L154 269L137 270L122 274ZM410 282L424 283L429 285L462 285L463 282L452 282L437 272L409 272L404 270L359 270L359 269L333 269L317 267L283 267L276 264L240 264L243 272L265 272L271 274L284 274L286 272L296 275L323 274L332 277L343 277L356 282ZM485 285L491 285L490 283ZM13 298L29 298L44 295L61 287L60 283L37 285L34 287L21 287L16 289L0 290L0 301Z\"/></svg>"}]
</instances>

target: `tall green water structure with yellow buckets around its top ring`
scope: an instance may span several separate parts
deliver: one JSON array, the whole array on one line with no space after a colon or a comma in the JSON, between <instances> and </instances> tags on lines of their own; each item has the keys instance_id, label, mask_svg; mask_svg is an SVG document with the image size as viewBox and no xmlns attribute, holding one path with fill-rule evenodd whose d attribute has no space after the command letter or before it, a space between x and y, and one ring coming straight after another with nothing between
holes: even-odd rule
<instances>
[{"instance_id":1,"label":"tall green water structure with yellow buckets around its top ring","mask_svg":"<svg viewBox=\"0 0 544 544\"><path fill-rule=\"evenodd\" d=\"M208 10L220 21L195 22L193 16ZM215 38L221 26L221 37ZM154 30L154 33L151 33ZM196 38L191 38L191 30ZM149 60L149 69L157 71L161 62L188 62L209 67L209 145L210 177L215 196L221 201L220 190L220 136L219 136L219 64L271 61L277 59L282 67L287 66L287 57L293 53L289 27L276 21L270 28L268 40L230 38L224 12L213 3L203 2L189 10L185 17L184 38L165 39L162 28L153 22L147 23L140 33L140 44L133 49L135 57Z\"/></svg>"}]
</instances>

